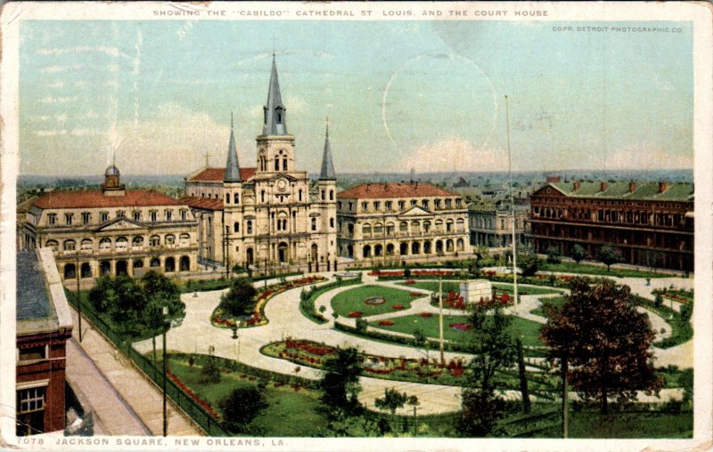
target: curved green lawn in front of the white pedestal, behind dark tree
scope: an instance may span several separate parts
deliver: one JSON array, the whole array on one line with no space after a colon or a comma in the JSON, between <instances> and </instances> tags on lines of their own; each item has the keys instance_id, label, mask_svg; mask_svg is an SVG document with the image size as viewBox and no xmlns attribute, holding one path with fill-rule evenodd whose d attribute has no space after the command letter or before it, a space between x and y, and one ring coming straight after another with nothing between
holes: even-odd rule
<instances>
[{"instance_id":1,"label":"curved green lawn in front of the white pedestal, behind dark tree","mask_svg":"<svg viewBox=\"0 0 713 452\"><path fill-rule=\"evenodd\" d=\"M541 346L539 340L539 329L542 326L537 322L528 319L511 316L512 327L519 330L520 340L525 346ZM385 331L395 331L413 335L414 331L420 329L424 335L431 338L438 338L438 315L431 317L421 317L419 315L410 315L389 319L394 322L390 327L380 326L378 321L370 322L372 327L381 328ZM468 323L468 316L443 316L443 338L448 341L463 343L470 340L468 331L459 331L453 327L449 327L452 323Z\"/></svg>"}]
</instances>

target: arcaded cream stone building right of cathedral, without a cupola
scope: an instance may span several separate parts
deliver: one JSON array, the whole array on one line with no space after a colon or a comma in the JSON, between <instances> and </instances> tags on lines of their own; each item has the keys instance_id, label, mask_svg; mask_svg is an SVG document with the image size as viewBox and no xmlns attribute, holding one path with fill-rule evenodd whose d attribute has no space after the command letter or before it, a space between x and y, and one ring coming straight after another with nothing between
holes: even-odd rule
<instances>
[{"instance_id":1,"label":"arcaded cream stone building right of cathedral, without a cupola","mask_svg":"<svg viewBox=\"0 0 713 452\"><path fill-rule=\"evenodd\" d=\"M366 183L337 194L340 256L429 261L471 255L468 209L430 183Z\"/></svg>"}]
</instances>

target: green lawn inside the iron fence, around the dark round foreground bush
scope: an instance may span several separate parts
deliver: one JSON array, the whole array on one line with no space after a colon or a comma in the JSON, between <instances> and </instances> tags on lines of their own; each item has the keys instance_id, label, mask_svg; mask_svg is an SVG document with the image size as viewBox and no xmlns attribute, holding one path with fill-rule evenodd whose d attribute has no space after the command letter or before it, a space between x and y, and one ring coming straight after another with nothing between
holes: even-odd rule
<instances>
[{"instance_id":1,"label":"green lawn inside the iron fence, around the dark round foreground bush","mask_svg":"<svg viewBox=\"0 0 713 452\"><path fill-rule=\"evenodd\" d=\"M240 378L244 374L232 372L223 373L219 383L201 383L201 367L197 364L189 367L184 359L171 359L169 366L191 391L206 400L217 412L217 402L230 391L238 387L257 386L260 381L259 378L253 381ZM317 409L321 405L319 392L307 388L294 391L290 385L276 388L274 383L269 382L265 395L269 406L250 424L265 436L314 437L320 429L326 429L326 419ZM306 419L309 422L305 422Z\"/></svg>"}]
</instances>

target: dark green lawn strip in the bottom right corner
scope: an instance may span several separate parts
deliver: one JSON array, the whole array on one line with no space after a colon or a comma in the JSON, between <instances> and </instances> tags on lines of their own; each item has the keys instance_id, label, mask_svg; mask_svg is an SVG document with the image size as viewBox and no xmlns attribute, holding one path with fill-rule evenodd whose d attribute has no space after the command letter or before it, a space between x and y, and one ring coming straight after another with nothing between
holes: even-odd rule
<instances>
[{"instance_id":1,"label":"dark green lawn strip in the bottom right corner","mask_svg":"<svg viewBox=\"0 0 713 452\"><path fill-rule=\"evenodd\" d=\"M693 437L692 412L594 412L571 411L569 438L672 438ZM561 426L537 432L533 438L561 438Z\"/></svg>"}]
</instances>

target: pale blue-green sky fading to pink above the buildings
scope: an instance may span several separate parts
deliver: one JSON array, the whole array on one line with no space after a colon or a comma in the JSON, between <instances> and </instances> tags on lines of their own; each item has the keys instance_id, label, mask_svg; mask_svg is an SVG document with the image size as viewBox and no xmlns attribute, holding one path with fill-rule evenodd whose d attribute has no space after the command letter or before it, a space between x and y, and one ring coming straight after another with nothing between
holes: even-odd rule
<instances>
[{"instance_id":1,"label":"pale blue-green sky fading to pink above the buildings","mask_svg":"<svg viewBox=\"0 0 713 452\"><path fill-rule=\"evenodd\" d=\"M338 174L506 171L508 116L515 171L693 168L692 25L558 25L25 20L20 174L225 165L231 113L240 165L255 166L273 52L310 173L327 117Z\"/></svg>"}]
</instances>

